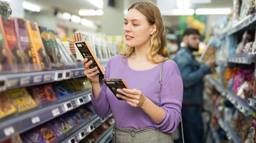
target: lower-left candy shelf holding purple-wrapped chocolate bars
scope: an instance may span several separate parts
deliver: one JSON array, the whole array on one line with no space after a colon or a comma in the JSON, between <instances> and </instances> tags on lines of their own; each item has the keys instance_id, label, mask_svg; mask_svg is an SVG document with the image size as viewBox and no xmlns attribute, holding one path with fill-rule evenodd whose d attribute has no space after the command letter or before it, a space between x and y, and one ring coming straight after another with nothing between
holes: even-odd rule
<instances>
[{"instance_id":1,"label":"lower-left candy shelf holding purple-wrapped chocolate bars","mask_svg":"<svg viewBox=\"0 0 256 143\"><path fill-rule=\"evenodd\" d=\"M94 127L95 122L101 120L94 111L89 109L89 106L92 106L91 103L86 103L79 108L72 109L61 116L18 134L18 136L20 136L21 142L31 143L63 143L68 141L69 138L84 138L86 133L92 132L91 127ZM16 135L12 136L11 139L14 137Z\"/></svg>"}]
</instances>

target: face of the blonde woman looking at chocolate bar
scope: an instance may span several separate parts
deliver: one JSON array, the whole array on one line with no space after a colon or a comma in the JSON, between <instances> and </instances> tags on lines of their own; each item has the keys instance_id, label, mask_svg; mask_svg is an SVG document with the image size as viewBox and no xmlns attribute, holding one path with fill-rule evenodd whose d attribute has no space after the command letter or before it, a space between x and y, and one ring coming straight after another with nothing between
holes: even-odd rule
<instances>
[{"instance_id":1,"label":"face of the blonde woman looking at chocolate bar","mask_svg":"<svg viewBox=\"0 0 256 143\"><path fill-rule=\"evenodd\" d=\"M151 35L156 25L150 25L146 17L137 9L130 9L124 17L125 44L128 47L150 47Z\"/></svg>"}]
</instances>

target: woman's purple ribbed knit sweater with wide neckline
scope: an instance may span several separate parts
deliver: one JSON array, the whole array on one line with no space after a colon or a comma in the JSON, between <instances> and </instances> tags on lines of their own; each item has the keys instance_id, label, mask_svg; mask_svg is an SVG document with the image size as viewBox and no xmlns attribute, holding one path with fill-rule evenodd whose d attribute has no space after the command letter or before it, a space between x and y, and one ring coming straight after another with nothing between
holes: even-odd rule
<instances>
[{"instance_id":1,"label":"woman's purple ribbed knit sweater with wide neckline","mask_svg":"<svg viewBox=\"0 0 256 143\"><path fill-rule=\"evenodd\" d=\"M123 78L130 89L140 90L148 99L158 105L159 74L162 63L156 67L135 71L121 55L109 60L104 78ZM183 83L178 66L172 60L167 60L163 66L160 107L165 111L161 122L153 121L139 107L132 107L125 101L117 100L115 95L103 84L98 98L92 97L92 104L101 118L113 113L115 123L122 128L143 129L151 128L162 132L172 133L181 121L181 103Z\"/></svg>"}]
</instances>

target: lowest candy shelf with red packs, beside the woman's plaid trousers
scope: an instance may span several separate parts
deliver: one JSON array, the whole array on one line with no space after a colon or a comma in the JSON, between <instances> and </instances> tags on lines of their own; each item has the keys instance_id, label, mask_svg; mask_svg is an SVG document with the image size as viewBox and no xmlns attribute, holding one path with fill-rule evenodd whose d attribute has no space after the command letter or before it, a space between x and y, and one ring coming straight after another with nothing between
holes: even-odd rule
<instances>
[{"instance_id":1,"label":"lowest candy shelf with red packs, beside the woman's plaid trousers","mask_svg":"<svg viewBox=\"0 0 256 143\"><path fill-rule=\"evenodd\" d=\"M104 143L112 136L114 127L113 116L100 124L94 131L87 135L80 143Z\"/></svg>"}]
</instances>

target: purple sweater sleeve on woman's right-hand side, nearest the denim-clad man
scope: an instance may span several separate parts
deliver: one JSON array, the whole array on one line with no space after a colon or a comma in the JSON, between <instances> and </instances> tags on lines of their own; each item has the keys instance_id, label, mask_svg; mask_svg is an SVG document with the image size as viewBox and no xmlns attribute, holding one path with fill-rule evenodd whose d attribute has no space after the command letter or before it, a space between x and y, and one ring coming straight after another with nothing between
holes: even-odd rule
<instances>
[{"instance_id":1,"label":"purple sweater sleeve on woman's right-hand side, nearest the denim-clad man","mask_svg":"<svg viewBox=\"0 0 256 143\"><path fill-rule=\"evenodd\" d=\"M165 111L165 115L161 122L154 124L162 132L173 133L181 121L183 83L177 64L172 61L172 65L166 66L160 94L160 108Z\"/></svg>"}]
</instances>

